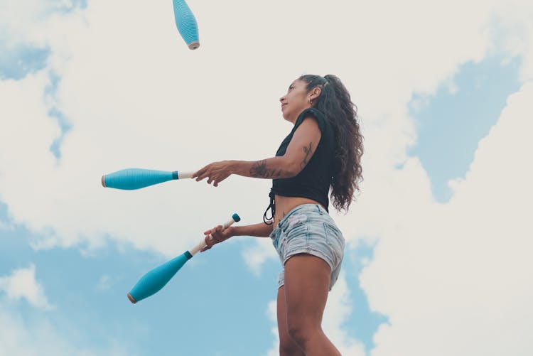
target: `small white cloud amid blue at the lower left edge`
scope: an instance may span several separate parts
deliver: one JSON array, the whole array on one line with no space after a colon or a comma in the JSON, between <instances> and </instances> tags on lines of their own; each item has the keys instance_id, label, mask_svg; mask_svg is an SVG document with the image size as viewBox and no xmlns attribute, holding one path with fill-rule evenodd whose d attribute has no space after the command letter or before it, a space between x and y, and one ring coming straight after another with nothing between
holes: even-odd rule
<instances>
[{"instance_id":1,"label":"small white cloud amid blue at the lower left edge","mask_svg":"<svg viewBox=\"0 0 533 356\"><path fill-rule=\"evenodd\" d=\"M9 299L26 299L36 308L55 308L48 303L43 286L36 280L33 264L27 269L16 269L11 275L0 277L0 291L4 291Z\"/></svg>"}]
</instances>

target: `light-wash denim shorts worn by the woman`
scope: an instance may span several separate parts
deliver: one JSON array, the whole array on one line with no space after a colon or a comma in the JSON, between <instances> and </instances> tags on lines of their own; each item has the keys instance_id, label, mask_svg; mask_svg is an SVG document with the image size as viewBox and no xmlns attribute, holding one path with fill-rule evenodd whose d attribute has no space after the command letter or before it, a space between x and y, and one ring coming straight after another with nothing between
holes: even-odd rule
<instances>
[{"instance_id":1,"label":"light-wash denim shorts worn by the woman","mask_svg":"<svg viewBox=\"0 0 533 356\"><path fill-rule=\"evenodd\" d=\"M274 227L270 238L283 266L295 254L311 254L323 259L331 269L331 290L338 279L344 257L344 237L322 205L295 207ZM278 288L284 286L284 276L284 271L281 271Z\"/></svg>"}]
</instances>

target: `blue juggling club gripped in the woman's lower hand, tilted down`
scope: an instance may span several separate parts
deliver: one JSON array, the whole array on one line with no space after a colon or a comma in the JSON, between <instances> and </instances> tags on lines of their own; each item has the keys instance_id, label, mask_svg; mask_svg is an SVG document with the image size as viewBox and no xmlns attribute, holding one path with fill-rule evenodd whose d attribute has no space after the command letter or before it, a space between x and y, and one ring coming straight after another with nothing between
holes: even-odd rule
<instances>
[{"instance_id":1,"label":"blue juggling club gripped in the woman's lower hand, tilted down","mask_svg":"<svg viewBox=\"0 0 533 356\"><path fill-rule=\"evenodd\" d=\"M240 220L241 218L239 217L239 215L233 214L232 220L222 225L222 230L225 230L234 222L238 222ZM212 239L211 234L208 236L208 238ZM202 241L200 241L200 243L192 249L185 251L178 257L171 259L170 261L161 264L161 266L158 266L146 273L144 276L141 277L141 279L139 279L137 284L133 288L131 288L131 291L129 291L129 301L135 304L138 301L142 301L144 298L148 298L149 296L160 291L161 288L163 288L168 283L168 281L171 280L171 278L176 274L176 272L181 269L185 262L193 258L193 256L205 246L207 246L207 244L205 243L205 239L202 239Z\"/></svg>"}]
</instances>

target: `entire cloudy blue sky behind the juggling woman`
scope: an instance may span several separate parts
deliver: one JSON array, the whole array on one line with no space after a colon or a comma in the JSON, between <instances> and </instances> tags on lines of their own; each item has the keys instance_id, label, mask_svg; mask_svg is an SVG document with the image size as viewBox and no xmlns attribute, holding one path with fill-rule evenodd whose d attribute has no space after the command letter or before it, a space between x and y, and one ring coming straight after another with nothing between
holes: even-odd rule
<instances>
[{"instance_id":1,"label":"entire cloudy blue sky behind the juggling woman","mask_svg":"<svg viewBox=\"0 0 533 356\"><path fill-rule=\"evenodd\" d=\"M274 156L299 75L338 75L364 181L323 329L343 355L532 355L533 4L0 0L0 355L277 355L269 239L198 254L132 305L146 271L269 180L104 189L122 168Z\"/></svg>"}]
</instances>

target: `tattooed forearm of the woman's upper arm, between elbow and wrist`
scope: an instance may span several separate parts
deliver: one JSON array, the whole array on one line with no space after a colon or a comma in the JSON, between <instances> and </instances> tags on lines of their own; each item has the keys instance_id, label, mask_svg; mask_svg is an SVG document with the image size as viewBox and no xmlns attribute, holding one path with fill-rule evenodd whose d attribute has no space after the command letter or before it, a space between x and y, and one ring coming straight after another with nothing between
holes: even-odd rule
<instances>
[{"instance_id":1,"label":"tattooed forearm of the woman's upper arm, between elbow and wrist","mask_svg":"<svg viewBox=\"0 0 533 356\"><path fill-rule=\"evenodd\" d=\"M230 167L233 174L252 178L292 178L299 173L297 165L283 156L261 161L231 161Z\"/></svg>"}]
</instances>

